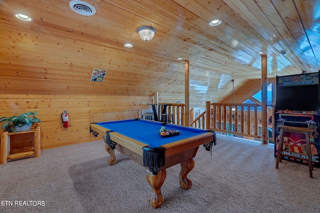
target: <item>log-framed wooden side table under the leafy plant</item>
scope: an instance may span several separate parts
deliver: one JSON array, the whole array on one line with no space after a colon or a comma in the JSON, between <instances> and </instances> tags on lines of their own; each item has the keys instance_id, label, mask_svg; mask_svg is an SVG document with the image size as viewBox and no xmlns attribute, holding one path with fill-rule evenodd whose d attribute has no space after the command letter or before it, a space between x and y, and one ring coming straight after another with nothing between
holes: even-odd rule
<instances>
[{"instance_id":1,"label":"log-framed wooden side table under the leafy plant","mask_svg":"<svg viewBox=\"0 0 320 213\"><path fill-rule=\"evenodd\" d=\"M9 154L9 137L10 135L33 133L33 147L25 147L20 149L18 153ZM40 127L37 126L29 131L22 132L2 132L0 141L0 164L6 164L7 160L14 160L18 158L25 158L34 155L34 157L40 157Z\"/></svg>"}]
</instances>

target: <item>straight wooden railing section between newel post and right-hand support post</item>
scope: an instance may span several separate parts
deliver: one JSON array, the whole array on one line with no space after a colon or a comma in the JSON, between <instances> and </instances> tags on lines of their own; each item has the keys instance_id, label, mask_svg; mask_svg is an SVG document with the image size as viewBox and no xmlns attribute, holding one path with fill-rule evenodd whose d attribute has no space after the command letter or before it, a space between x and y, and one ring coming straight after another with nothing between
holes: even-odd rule
<instances>
[{"instance_id":1,"label":"straight wooden railing section between newel post and right-hand support post","mask_svg":"<svg viewBox=\"0 0 320 213\"><path fill-rule=\"evenodd\" d=\"M217 132L261 138L258 126L261 126L259 104L209 103L206 104L206 128ZM246 108L246 109L245 109ZM209 116L209 118L207 117Z\"/></svg>"}]
</instances>

